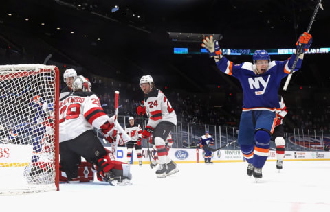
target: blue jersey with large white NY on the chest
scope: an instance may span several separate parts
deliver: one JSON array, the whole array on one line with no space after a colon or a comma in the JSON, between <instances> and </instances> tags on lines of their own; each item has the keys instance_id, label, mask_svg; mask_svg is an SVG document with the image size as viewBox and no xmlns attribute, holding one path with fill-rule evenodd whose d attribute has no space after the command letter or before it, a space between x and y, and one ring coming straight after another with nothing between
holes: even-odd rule
<instances>
[{"instance_id":1,"label":"blue jersey with large white NY on the chest","mask_svg":"<svg viewBox=\"0 0 330 212\"><path fill-rule=\"evenodd\" d=\"M285 61L272 61L268 65L267 71L261 75L254 73L254 65L251 62L233 64L223 56L217 62L217 67L223 73L232 75L241 82L243 89L243 111L247 110L280 110L278 103L278 89L281 80L285 78L294 64L296 56ZM299 58L296 68L301 67L302 59Z\"/></svg>"}]
</instances>

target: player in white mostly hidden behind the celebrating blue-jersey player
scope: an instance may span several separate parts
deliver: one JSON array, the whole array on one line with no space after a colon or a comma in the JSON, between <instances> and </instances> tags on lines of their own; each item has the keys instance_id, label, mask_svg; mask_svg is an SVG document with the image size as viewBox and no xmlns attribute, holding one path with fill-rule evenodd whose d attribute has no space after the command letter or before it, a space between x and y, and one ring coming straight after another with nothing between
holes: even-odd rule
<instances>
[{"instance_id":1,"label":"player in white mostly hidden behind the celebrating blue-jersey player","mask_svg":"<svg viewBox=\"0 0 330 212\"><path fill-rule=\"evenodd\" d=\"M277 110L277 121L275 124L274 132L272 134L272 141L275 141L276 145L276 168L278 172L283 169L283 158L285 152L285 139L284 139L284 128L283 118L287 115L287 107L285 106L283 97L278 95L278 102L280 103L281 110Z\"/></svg>"}]
</instances>

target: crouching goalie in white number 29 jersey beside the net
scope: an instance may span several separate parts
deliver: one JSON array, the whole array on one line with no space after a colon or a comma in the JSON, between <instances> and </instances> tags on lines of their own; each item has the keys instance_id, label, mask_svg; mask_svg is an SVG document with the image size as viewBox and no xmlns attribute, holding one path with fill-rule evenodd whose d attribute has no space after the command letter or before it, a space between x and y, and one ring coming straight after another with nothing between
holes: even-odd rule
<instances>
[{"instance_id":1,"label":"crouching goalie in white number 29 jersey beside the net","mask_svg":"<svg viewBox=\"0 0 330 212\"><path fill-rule=\"evenodd\" d=\"M83 156L94 165L98 180L111 185L131 180L129 164L115 161L93 132L94 127L101 129L109 143L113 143L115 117L104 113L99 98L91 92L89 80L83 76L75 78L72 89L74 93L59 103L61 171L69 181L77 178Z\"/></svg>"}]
</instances>

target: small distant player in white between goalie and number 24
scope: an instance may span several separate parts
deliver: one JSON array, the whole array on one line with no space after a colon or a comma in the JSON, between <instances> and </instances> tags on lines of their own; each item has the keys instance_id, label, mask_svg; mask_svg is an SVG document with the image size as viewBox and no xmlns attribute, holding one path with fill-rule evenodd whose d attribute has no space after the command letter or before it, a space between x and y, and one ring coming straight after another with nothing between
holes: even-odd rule
<instances>
[{"instance_id":1,"label":"small distant player in white between goalie and number 24","mask_svg":"<svg viewBox=\"0 0 330 212\"><path fill-rule=\"evenodd\" d=\"M129 117L129 124L126 126L125 132L131 137L131 141L127 142L127 163L131 163L132 150L135 147L137 160L139 160L139 165L142 166L142 128L140 124L135 123L133 117Z\"/></svg>"}]
</instances>

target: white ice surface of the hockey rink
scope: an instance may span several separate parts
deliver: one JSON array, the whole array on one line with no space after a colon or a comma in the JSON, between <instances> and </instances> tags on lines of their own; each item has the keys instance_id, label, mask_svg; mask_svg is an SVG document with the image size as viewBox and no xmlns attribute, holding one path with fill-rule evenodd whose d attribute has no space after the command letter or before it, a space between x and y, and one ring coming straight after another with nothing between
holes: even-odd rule
<instances>
[{"instance_id":1,"label":"white ice surface of the hockey rink","mask_svg":"<svg viewBox=\"0 0 330 212\"><path fill-rule=\"evenodd\" d=\"M157 178L148 164L131 165L132 185L61 184L61 191L0 196L1 211L330 211L330 161L267 161L263 178L247 163L179 163Z\"/></svg>"}]
</instances>

